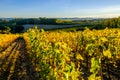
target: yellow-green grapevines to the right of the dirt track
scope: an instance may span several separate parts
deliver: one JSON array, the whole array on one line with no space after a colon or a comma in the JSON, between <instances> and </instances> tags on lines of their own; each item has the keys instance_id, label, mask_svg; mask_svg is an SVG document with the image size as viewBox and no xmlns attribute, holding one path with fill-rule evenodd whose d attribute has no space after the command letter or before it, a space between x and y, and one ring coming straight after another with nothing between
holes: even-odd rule
<instances>
[{"instance_id":1,"label":"yellow-green grapevines to the right of the dirt track","mask_svg":"<svg viewBox=\"0 0 120 80\"><path fill-rule=\"evenodd\" d=\"M24 39L40 79L120 78L120 29L45 32L35 27Z\"/></svg>"}]
</instances>

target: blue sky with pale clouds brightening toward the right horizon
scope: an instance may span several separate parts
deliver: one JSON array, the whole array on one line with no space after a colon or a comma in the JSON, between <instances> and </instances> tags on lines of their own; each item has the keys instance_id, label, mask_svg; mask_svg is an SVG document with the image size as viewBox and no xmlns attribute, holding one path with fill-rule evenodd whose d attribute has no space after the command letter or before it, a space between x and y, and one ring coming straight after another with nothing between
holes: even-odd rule
<instances>
[{"instance_id":1,"label":"blue sky with pale clouds brightening toward the right horizon","mask_svg":"<svg viewBox=\"0 0 120 80\"><path fill-rule=\"evenodd\" d=\"M118 17L120 0L0 0L0 17Z\"/></svg>"}]
</instances>

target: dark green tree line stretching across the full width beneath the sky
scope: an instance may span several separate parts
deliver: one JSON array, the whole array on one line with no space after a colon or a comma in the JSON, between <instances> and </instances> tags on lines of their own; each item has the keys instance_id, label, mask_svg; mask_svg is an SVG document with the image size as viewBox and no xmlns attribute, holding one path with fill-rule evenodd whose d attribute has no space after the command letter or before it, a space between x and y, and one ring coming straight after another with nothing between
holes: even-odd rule
<instances>
[{"instance_id":1,"label":"dark green tree line stretching across the full width beneath the sky","mask_svg":"<svg viewBox=\"0 0 120 80\"><path fill-rule=\"evenodd\" d=\"M90 29L120 28L120 17L94 20L61 20L57 18L14 18L12 20L0 19L0 33L20 33L26 24L47 24L47 25L71 25L78 24L78 27Z\"/></svg>"}]
</instances>

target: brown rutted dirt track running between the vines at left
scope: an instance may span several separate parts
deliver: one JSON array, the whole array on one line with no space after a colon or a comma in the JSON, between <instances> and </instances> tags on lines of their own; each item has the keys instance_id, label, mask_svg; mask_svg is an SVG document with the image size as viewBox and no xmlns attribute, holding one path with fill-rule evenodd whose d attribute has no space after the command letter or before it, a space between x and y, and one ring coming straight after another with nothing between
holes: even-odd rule
<instances>
[{"instance_id":1,"label":"brown rutted dirt track running between the vines at left","mask_svg":"<svg viewBox=\"0 0 120 80\"><path fill-rule=\"evenodd\" d=\"M0 53L0 80L38 80L24 39L16 39Z\"/></svg>"}]
</instances>

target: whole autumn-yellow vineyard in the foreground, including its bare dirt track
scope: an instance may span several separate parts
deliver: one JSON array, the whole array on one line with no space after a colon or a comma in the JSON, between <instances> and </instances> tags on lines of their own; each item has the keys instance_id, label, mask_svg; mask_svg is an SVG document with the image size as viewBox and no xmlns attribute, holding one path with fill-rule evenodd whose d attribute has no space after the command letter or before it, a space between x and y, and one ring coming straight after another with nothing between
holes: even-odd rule
<instances>
[{"instance_id":1,"label":"whole autumn-yellow vineyard in the foreground, including its bare dirt track","mask_svg":"<svg viewBox=\"0 0 120 80\"><path fill-rule=\"evenodd\" d=\"M0 80L120 79L120 29L0 37Z\"/></svg>"}]
</instances>

